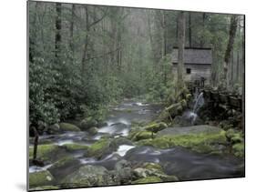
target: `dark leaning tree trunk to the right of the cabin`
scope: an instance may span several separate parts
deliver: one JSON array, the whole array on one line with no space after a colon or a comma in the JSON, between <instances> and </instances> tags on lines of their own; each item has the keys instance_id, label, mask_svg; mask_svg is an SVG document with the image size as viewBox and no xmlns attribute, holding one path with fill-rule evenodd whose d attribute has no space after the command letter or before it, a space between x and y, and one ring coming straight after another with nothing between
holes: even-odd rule
<instances>
[{"instance_id":1,"label":"dark leaning tree trunk to the right of the cabin","mask_svg":"<svg viewBox=\"0 0 256 192\"><path fill-rule=\"evenodd\" d=\"M237 26L238 26L238 16L237 15L232 15L230 19L230 37L229 37L229 43L227 45L227 49L225 52L225 57L224 57L224 81L226 82L225 86L229 87L229 76L228 76L228 68L230 65L230 57L231 53L233 50L233 44L236 36L236 31L237 31Z\"/></svg>"}]
</instances>

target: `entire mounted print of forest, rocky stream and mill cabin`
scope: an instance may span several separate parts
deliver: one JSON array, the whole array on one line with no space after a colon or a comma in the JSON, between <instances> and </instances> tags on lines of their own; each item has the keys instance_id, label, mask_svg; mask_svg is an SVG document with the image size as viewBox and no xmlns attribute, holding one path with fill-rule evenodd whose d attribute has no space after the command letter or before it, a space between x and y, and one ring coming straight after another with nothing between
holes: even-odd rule
<instances>
[{"instance_id":1,"label":"entire mounted print of forest, rocky stream and mill cabin","mask_svg":"<svg viewBox=\"0 0 256 192\"><path fill-rule=\"evenodd\" d=\"M244 177L244 15L28 11L30 190Z\"/></svg>"}]
</instances>

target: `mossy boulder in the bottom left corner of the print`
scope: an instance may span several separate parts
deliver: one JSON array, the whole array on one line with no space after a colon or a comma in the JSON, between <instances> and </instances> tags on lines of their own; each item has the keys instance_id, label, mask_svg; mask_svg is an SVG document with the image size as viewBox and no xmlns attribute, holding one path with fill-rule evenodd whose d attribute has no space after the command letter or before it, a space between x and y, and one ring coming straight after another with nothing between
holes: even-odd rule
<instances>
[{"instance_id":1,"label":"mossy boulder in the bottom left corner of the print","mask_svg":"<svg viewBox=\"0 0 256 192\"><path fill-rule=\"evenodd\" d=\"M55 178L49 171L38 171L29 173L29 187L50 186Z\"/></svg>"}]
</instances>

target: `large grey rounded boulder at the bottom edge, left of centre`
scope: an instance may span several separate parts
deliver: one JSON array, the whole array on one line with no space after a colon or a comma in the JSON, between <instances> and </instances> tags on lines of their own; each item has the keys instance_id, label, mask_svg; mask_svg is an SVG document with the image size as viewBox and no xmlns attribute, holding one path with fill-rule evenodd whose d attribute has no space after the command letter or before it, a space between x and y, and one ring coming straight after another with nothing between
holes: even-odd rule
<instances>
[{"instance_id":1,"label":"large grey rounded boulder at the bottom edge, left of centre","mask_svg":"<svg viewBox=\"0 0 256 192\"><path fill-rule=\"evenodd\" d=\"M62 180L68 187L99 187L117 185L105 167L84 166Z\"/></svg>"}]
</instances>

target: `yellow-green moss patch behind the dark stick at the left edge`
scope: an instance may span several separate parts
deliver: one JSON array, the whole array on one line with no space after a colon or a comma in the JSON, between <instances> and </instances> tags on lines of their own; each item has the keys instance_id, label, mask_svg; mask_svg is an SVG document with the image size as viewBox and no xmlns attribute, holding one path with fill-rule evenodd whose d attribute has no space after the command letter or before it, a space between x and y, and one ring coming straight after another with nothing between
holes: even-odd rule
<instances>
[{"instance_id":1,"label":"yellow-green moss patch behind the dark stick at the left edge","mask_svg":"<svg viewBox=\"0 0 256 192\"><path fill-rule=\"evenodd\" d=\"M58 146L56 145L39 145L37 146L37 158L46 161L49 160L52 156L56 156L58 151ZM34 147L29 147L29 158L33 157Z\"/></svg>"}]
</instances>

